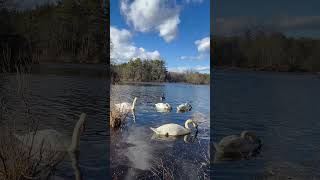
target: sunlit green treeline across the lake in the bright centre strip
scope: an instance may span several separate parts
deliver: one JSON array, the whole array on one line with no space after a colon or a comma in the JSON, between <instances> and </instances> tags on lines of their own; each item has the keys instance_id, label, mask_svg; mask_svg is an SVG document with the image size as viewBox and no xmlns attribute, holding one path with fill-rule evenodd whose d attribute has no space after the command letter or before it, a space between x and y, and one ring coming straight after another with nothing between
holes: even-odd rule
<instances>
[{"instance_id":1,"label":"sunlit green treeline across the lake in the bright centre strip","mask_svg":"<svg viewBox=\"0 0 320 180\"><path fill-rule=\"evenodd\" d=\"M185 82L209 84L210 75L193 71L168 72L163 60L132 59L111 66L112 81L117 82Z\"/></svg>"}]
</instances>

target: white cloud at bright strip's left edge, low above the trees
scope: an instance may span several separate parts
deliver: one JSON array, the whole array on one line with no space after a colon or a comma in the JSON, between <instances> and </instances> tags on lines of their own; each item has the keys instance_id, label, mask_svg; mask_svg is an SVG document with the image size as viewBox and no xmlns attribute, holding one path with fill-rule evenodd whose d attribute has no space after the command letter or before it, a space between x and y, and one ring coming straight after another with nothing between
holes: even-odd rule
<instances>
[{"instance_id":1,"label":"white cloud at bright strip's left edge, low above the trees","mask_svg":"<svg viewBox=\"0 0 320 180\"><path fill-rule=\"evenodd\" d=\"M159 59L158 51L146 51L142 47L136 47L131 42L132 34L126 29L117 29L110 26L110 38L112 43L111 59L117 63L127 62L131 58Z\"/></svg>"}]
</instances>

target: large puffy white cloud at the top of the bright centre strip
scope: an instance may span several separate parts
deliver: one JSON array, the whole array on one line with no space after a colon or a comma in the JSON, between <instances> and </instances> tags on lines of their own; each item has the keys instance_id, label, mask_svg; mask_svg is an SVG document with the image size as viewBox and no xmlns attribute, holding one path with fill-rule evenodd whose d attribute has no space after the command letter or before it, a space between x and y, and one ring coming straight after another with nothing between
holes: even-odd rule
<instances>
[{"instance_id":1,"label":"large puffy white cloud at the top of the bright centre strip","mask_svg":"<svg viewBox=\"0 0 320 180\"><path fill-rule=\"evenodd\" d=\"M180 8L175 1L121 0L120 9L136 31L156 31L166 42L177 36Z\"/></svg>"}]
</instances>

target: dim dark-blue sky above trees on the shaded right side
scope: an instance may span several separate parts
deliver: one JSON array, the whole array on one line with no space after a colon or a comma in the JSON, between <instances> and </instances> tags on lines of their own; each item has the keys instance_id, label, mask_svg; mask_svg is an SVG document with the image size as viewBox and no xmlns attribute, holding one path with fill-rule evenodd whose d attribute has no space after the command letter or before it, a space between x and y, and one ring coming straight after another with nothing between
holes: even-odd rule
<instances>
[{"instance_id":1,"label":"dim dark-blue sky above trees on the shaded right side","mask_svg":"<svg viewBox=\"0 0 320 180\"><path fill-rule=\"evenodd\" d=\"M214 34L259 26L289 36L320 37L319 0L216 0L213 6Z\"/></svg>"}]
</instances>

